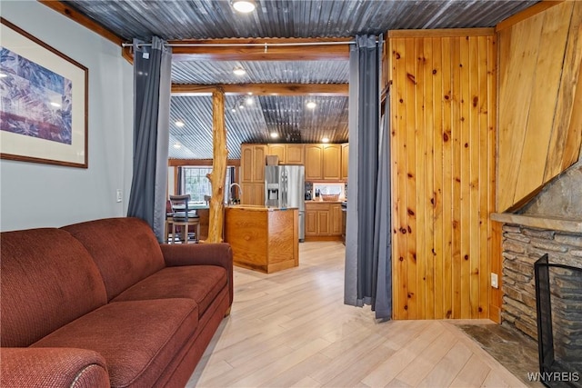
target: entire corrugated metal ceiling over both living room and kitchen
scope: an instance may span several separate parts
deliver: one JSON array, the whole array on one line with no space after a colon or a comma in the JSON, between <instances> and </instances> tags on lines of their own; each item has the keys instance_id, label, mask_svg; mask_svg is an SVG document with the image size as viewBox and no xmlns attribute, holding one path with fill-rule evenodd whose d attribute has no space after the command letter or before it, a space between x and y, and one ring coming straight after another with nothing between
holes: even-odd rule
<instances>
[{"instance_id":1,"label":"entire corrugated metal ceiling over both living room and kitchen","mask_svg":"<svg viewBox=\"0 0 582 388\"><path fill-rule=\"evenodd\" d=\"M534 5L537 0L256 0L249 15L237 14L226 0L72 0L62 2L93 18L127 42L226 37L352 37L388 30L490 27ZM232 69L246 68L236 77ZM175 61L175 84L344 84L347 61ZM254 96L244 109L226 96L227 146L240 157L240 144L347 141L348 99L343 96ZM315 110L306 109L315 100ZM212 158L212 101L208 96L173 96L170 157ZM173 124L176 120L184 127ZM174 144L180 144L175 148Z\"/></svg>"}]
</instances>

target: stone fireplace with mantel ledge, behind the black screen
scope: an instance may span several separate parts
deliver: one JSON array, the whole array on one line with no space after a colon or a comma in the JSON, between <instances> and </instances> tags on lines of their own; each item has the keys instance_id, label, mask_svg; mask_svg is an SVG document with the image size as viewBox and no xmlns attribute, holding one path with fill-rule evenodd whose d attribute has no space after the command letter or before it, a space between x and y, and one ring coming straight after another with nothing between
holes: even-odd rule
<instances>
[{"instance_id":1,"label":"stone fireplace with mantel ledge, behind the black screen","mask_svg":"<svg viewBox=\"0 0 582 388\"><path fill-rule=\"evenodd\" d=\"M538 339L534 264L547 254L553 351L582 371L582 159L519 213L492 218L503 223L502 322Z\"/></svg>"}]
</instances>

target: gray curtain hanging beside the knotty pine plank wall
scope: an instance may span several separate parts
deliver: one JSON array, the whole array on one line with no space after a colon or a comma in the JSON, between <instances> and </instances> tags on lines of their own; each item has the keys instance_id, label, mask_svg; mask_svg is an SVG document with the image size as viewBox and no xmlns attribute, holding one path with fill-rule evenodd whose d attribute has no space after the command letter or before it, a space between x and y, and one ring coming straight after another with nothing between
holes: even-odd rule
<instances>
[{"instance_id":1,"label":"gray curtain hanging beside the knotty pine plank wall","mask_svg":"<svg viewBox=\"0 0 582 388\"><path fill-rule=\"evenodd\" d=\"M346 304L392 314L389 133L380 117L383 40L358 35L350 48ZM386 100L387 101L387 100ZM387 109L387 105L386 105ZM386 111L387 113L387 111Z\"/></svg>"}]
</instances>

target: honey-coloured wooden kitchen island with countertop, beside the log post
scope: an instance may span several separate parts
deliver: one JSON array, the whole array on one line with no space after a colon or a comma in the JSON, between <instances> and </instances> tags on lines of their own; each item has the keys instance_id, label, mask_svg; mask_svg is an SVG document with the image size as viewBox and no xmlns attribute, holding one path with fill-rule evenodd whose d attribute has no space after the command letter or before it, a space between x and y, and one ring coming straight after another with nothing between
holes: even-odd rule
<instances>
[{"instance_id":1,"label":"honey-coloured wooden kitchen island with countertop, beside the log post","mask_svg":"<svg viewBox=\"0 0 582 388\"><path fill-rule=\"evenodd\" d=\"M299 265L298 210L261 205L225 208L225 242L237 266L271 274Z\"/></svg>"}]
</instances>

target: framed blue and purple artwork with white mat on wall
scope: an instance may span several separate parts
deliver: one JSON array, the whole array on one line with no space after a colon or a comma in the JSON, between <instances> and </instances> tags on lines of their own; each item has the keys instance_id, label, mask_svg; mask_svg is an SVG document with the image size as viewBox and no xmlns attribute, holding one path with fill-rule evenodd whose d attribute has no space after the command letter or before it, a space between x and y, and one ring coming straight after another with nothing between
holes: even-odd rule
<instances>
[{"instance_id":1,"label":"framed blue and purple artwork with white mat on wall","mask_svg":"<svg viewBox=\"0 0 582 388\"><path fill-rule=\"evenodd\" d=\"M0 156L87 168L87 68L0 22Z\"/></svg>"}]
</instances>

